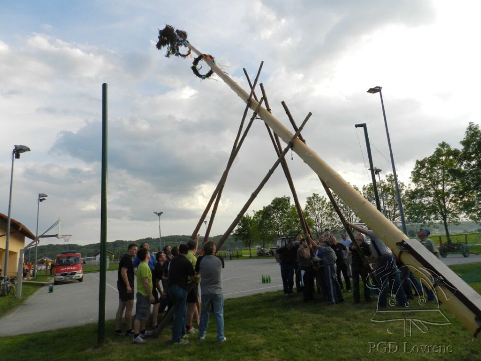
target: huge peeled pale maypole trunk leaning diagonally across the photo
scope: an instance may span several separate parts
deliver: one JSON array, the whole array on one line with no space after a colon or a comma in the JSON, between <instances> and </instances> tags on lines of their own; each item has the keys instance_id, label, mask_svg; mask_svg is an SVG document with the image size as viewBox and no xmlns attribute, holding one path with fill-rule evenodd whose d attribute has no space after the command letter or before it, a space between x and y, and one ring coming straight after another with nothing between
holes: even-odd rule
<instances>
[{"instance_id":1,"label":"huge peeled pale maypole trunk leaning diagonally across the photo","mask_svg":"<svg viewBox=\"0 0 481 361\"><path fill-rule=\"evenodd\" d=\"M186 42L194 53L201 53L190 43ZM225 74L213 62L206 62L212 71L217 74L244 102L248 102L249 94ZM250 102L251 109L255 109L258 102ZM449 269L442 261L438 260L417 240L409 239L351 185L349 185L333 168L321 159L311 148L299 139L293 139L293 134L283 126L265 108L259 109L261 118L274 130L284 142L293 143L292 149L314 170L327 187L332 189L341 200L351 208L354 213L364 221L391 248L401 261L414 266L413 273L418 278L426 275L421 268L430 270L434 285L441 297L439 299L448 307L459 320L471 331L476 338L481 338L481 296L466 284L459 276ZM455 290L455 291L454 291Z\"/></svg>"}]
</instances>

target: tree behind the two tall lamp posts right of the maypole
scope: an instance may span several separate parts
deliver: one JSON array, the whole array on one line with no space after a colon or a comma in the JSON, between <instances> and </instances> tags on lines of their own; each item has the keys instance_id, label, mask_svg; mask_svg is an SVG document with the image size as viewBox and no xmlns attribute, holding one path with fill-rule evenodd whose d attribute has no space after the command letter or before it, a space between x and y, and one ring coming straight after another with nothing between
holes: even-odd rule
<instances>
[{"instance_id":1,"label":"tree behind the two tall lamp posts right of the maypole","mask_svg":"<svg viewBox=\"0 0 481 361\"><path fill-rule=\"evenodd\" d=\"M381 179L381 184L379 185L379 182L376 182L376 185L379 191L379 198L381 198L379 201L381 202L381 206L385 208L384 213L386 218L391 222L400 222L401 215L399 214L399 204L397 203L397 192L396 184L394 183L394 175L392 173L386 174L385 179ZM402 182L398 182L398 185L399 194L401 195L401 202L402 204L404 204L406 186ZM372 184L362 186L362 195L374 206L376 205Z\"/></svg>"}]
</instances>

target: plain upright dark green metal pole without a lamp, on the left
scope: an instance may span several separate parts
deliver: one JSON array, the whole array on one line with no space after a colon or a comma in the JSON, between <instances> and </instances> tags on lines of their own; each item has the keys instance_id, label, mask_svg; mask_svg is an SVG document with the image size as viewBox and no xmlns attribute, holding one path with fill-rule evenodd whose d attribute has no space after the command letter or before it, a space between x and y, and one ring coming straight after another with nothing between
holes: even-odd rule
<instances>
[{"instance_id":1,"label":"plain upright dark green metal pole without a lamp, on the left","mask_svg":"<svg viewBox=\"0 0 481 361\"><path fill-rule=\"evenodd\" d=\"M105 282L107 258L107 83L102 84L102 194L100 206L100 283L98 344L105 336Z\"/></svg>"}]
</instances>

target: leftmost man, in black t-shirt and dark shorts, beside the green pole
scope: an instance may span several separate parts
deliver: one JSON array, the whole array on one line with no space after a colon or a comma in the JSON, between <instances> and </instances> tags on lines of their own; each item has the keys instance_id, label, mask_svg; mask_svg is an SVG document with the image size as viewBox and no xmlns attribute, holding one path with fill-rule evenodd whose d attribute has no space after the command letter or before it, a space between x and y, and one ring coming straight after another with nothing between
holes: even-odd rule
<instances>
[{"instance_id":1,"label":"leftmost man, in black t-shirt and dark shorts, beside the green pole","mask_svg":"<svg viewBox=\"0 0 481 361\"><path fill-rule=\"evenodd\" d=\"M138 246L135 243L129 244L127 253L122 256L119 262L117 273L117 289L119 291L119 308L115 315L117 336L122 335L122 315L125 310L125 323L127 324L127 335L133 335L132 329L132 308L134 307L134 267L132 257L137 254Z\"/></svg>"}]
</instances>

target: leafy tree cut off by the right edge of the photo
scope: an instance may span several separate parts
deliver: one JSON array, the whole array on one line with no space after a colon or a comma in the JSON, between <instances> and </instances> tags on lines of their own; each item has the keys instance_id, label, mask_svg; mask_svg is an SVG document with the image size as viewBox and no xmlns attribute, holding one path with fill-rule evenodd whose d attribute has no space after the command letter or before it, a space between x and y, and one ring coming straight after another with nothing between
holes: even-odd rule
<instances>
[{"instance_id":1,"label":"leafy tree cut off by the right edge of the photo","mask_svg":"<svg viewBox=\"0 0 481 361\"><path fill-rule=\"evenodd\" d=\"M461 145L457 195L467 217L481 223L481 130L478 124L469 123Z\"/></svg>"}]
</instances>

